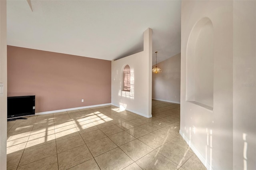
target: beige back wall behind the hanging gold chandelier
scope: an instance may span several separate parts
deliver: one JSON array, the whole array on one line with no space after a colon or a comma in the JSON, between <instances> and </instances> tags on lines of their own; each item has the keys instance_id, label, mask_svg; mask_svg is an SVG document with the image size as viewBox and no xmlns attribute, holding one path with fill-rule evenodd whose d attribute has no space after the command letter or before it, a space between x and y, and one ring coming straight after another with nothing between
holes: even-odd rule
<instances>
[{"instance_id":1,"label":"beige back wall behind the hanging gold chandelier","mask_svg":"<svg viewBox=\"0 0 256 170\"><path fill-rule=\"evenodd\" d=\"M180 53L158 63L157 67L162 73L152 74L152 99L180 103Z\"/></svg>"}]
</instances>

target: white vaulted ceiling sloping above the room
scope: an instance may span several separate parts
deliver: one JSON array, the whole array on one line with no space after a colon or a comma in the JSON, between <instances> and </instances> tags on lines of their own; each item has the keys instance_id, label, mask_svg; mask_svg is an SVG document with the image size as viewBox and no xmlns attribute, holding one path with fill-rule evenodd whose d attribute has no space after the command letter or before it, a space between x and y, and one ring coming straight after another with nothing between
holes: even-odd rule
<instances>
[{"instance_id":1,"label":"white vaulted ceiling sloping above the room","mask_svg":"<svg viewBox=\"0 0 256 170\"><path fill-rule=\"evenodd\" d=\"M180 53L181 1L7 1L7 44L119 59L143 50L153 30L153 64Z\"/></svg>"}]
</instances>

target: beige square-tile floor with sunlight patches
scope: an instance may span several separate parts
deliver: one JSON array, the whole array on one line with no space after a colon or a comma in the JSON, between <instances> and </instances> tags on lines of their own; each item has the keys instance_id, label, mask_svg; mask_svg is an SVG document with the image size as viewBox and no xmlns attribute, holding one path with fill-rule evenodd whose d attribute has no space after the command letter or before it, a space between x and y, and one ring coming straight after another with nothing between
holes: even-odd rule
<instances>
[{"instance_id":1,"label":"beige square-tile floor with sunlight patches","mask_svg":"<svg viewBox=\"0 0 256 170\"><path fill-rule=\"evenodd\" d=\"M112 105L8 122L8 170L204 170L179 134L180 105L148 119Z\"/></svg>"}]
</instances>

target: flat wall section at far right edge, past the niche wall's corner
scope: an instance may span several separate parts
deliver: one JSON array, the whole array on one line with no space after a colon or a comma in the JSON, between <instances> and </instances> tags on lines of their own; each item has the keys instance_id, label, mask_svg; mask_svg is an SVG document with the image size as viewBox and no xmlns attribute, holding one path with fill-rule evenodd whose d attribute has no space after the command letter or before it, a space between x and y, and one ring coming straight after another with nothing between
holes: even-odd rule
<instances>
[{"instance_id":1,"label":"flat wall section at far right edge, past the niche wall's corner","mask_svg":"<svg viewBox=\"0 0 256 170\"><path fill-rule=\"evenodd\" d=\"M234 1L233 169L256 169L256 1Z\"/></svg>"}]
</instances>

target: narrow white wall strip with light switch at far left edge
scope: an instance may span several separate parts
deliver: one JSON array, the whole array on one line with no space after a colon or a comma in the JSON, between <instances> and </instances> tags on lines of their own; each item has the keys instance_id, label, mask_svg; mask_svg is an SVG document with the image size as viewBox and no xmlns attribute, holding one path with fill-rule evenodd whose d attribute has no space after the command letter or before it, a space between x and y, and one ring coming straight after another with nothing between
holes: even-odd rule
<instances>
[{"instance_id":1,"label":"narrow white wall strip with light switch at far left edge","mask_svg":"<svg viewBox=\"0 0 256 170\"><path fill-rule=\"evenodd\" d=\"M0 97L0 169L5 170L7 140L6 0L0 0L0 82L4 83L4 95Z\"/></svg>"}]
</instances>

